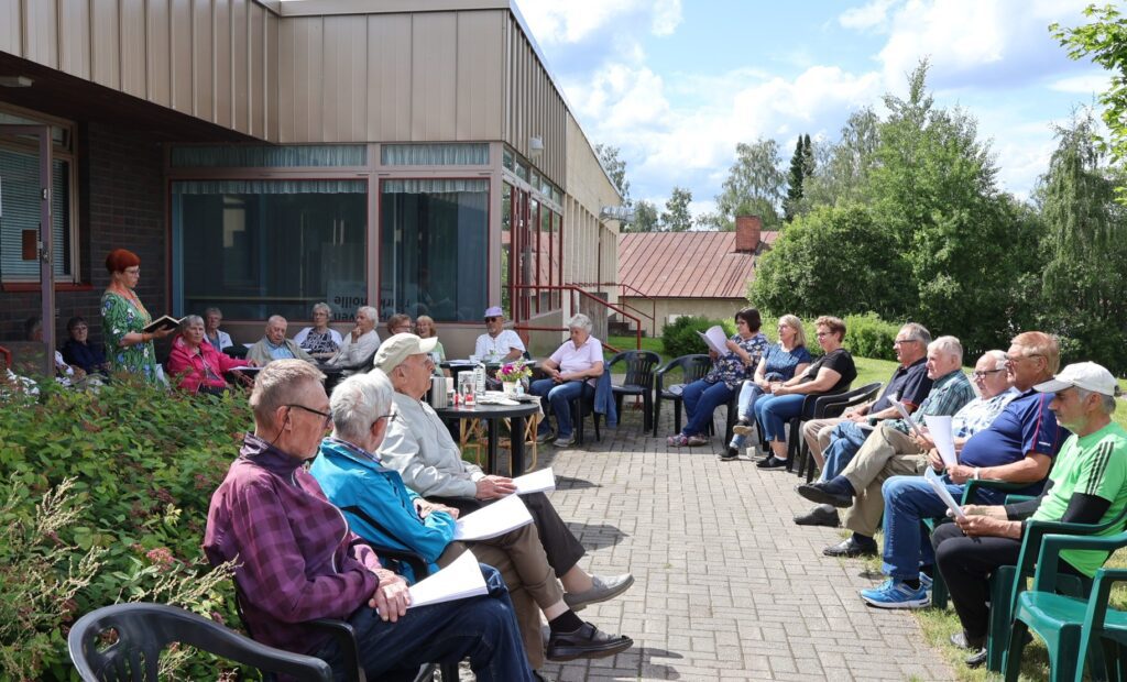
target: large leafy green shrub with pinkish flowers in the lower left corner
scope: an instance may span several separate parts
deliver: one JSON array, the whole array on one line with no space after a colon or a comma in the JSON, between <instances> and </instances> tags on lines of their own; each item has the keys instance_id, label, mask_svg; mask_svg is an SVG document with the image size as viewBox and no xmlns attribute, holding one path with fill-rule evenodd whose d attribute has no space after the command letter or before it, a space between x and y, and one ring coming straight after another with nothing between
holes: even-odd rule
<instances>
[{"instance_id":1,"label":"large leafy green shrub with pinkish flowers in the lower left corner","mask_svg":"<svg viewBox=\"0 0 1127 682\"><path fill-rule=\"evenodd\" d=\"M0 538L5 551L25 557L3 556L0 564L36 567L0 573L0 618L18 612L34 585L66 584L71 567L95 569L78 574L64 609L54 604L28 627L0 630L0 647L23 652L18 676L70 679L69 623L118 601L172 603L238 623L230 567L211 570L201 544L211 494L250 424L246 400L168 393L127 380L97 393L53 381L39 390L37 398L0 405L18 415L0 419L0 473L14 495L0 508L0 523L33 529L17 531L19 542ZM59 489L65 504L51 503ZM46 541L35 537L37 505L70 510ZM185 665L178 676L215 679L220 671L210 657Z\"/></svg>"}]
</instances>

